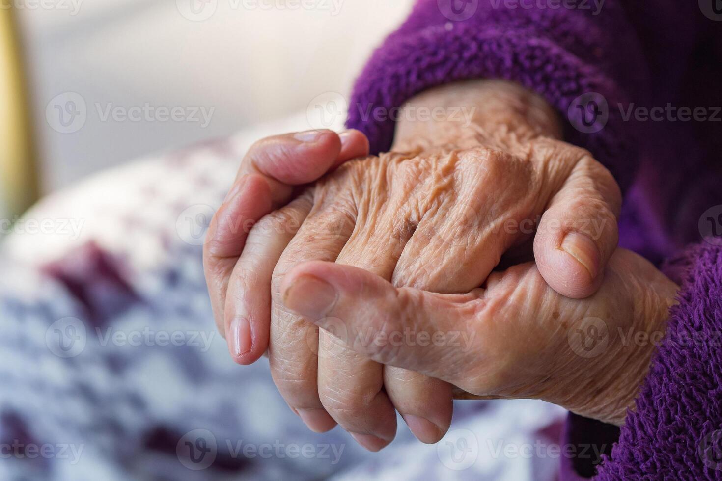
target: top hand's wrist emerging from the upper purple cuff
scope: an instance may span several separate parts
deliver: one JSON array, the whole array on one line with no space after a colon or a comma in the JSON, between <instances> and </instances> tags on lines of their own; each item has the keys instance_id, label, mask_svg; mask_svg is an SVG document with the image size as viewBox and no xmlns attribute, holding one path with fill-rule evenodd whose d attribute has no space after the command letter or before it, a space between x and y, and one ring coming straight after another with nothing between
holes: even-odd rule
<instances>
[{"instance_id":1,"label":"top hand's wrist emerging from the upper purple cuff","mask_svg":"<svg viewBox=\"0 0 722 481\"><path fill-rule=\"evenodd\" d=\"M554 109L538 94L503 80L446 84L412 97L401 107L393 150L504 149L544 136L560 138Z\"/></svg>"}]
</instances>

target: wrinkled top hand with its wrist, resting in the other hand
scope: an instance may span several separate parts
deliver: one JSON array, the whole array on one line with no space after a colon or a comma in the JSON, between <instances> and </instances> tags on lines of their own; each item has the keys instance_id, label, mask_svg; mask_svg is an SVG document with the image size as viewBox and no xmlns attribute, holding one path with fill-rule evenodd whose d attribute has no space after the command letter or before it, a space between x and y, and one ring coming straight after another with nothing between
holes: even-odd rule
<instances>
[{"instance_id":1,"label":"wrinkled top hand with its wrist, resting in the other hand","mask_svg":"<svg viewBox=\"0 0 722 481\"><path fill-rule=\"evenodd\" d=\"M469 125L414 118L424 105L474 115ZM588 152L554 139L559 128L539 97L471 82L423 94L402 115L392 153L344 164L266 216L230 279L209 279L216 290L227 285L217 322L235 360L251 363L268 345L277 387L310 428L335 420L369 449L393 439L393 407L419 439L438 441L451 422L451 385L384 368L290 312L279 290L290 268L329 260L396 286L464 292L503 255L529 255L533 239L547 283L582 297L599 286L617 244L616 183ZM223 216L238 225L233 209ZM220 217L217 226L226 223ZM208 245L226 245L216 230ZM214 275L207 263L206 273Z\"/></svg>"}]
</instances>

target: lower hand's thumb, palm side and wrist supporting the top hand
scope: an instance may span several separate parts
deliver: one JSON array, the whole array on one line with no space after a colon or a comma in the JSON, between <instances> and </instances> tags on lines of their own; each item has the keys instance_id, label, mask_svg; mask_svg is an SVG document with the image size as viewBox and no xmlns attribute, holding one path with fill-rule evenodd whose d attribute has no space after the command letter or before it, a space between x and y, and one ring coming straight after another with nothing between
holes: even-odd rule
<instances>
[{"instance_id":1,"label":"lower hand's thumb, palm side and wrist supporting the top hand","mask_svg":"<svg viewBox=\"0 0 722 481\"><path fill-rule=\"evenodd\" d=\"M469 294L395 288L365 270L305 262L284 304L379 363L444 379L484 397L539 398L622 425L633 409L678 286L617 250L601 288L577 300L534 263L492 273Z\"/></svg>"}]
</instances>

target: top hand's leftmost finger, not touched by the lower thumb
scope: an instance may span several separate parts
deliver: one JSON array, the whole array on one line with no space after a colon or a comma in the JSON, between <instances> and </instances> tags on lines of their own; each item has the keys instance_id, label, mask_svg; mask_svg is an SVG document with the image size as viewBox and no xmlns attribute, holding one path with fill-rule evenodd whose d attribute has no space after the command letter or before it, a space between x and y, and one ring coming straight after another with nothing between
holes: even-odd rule
<instances>
[{"instance_id":1,"label":"top hand's leftmost finger, not touched by the lower thumb","mask_svg":"<svg viewBox=\"0 0 722 481\"><path fill-rule=\"evenodd\" d=\"M312 195L301 195L269 213L248 233L243 254L230 276L225 304L226 338L236 363L254 363L268 348L271 276L312 206Z\"/></svg>"}]
</instances>

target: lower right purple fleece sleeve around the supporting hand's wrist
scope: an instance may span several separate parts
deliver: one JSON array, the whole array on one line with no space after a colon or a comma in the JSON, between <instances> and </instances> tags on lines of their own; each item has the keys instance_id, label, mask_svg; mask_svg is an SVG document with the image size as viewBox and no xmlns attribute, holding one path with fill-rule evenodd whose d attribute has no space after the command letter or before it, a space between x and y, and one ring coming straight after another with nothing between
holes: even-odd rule
<instances>
[{"instance_id":1,"label":"lower right purple fleece sleeve around the supporting hand's wrist","mask_svg":"<svg viewBox=\"0 0 722 481\"><path fill-rule=\"evenodd\" d=\"M690 247L664 271L682 283L679 304L596 480L722 480L722 247ZM570 415L565 441L599 443L609 429ZM561 480L592 475L586 461L563 459Z\"/></svg>"}]
</instances>

